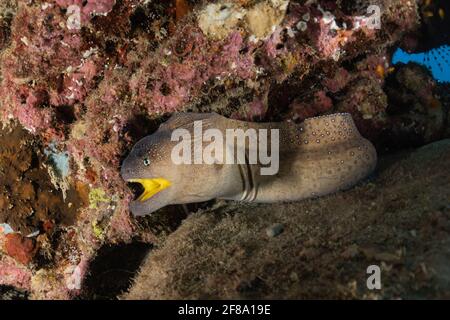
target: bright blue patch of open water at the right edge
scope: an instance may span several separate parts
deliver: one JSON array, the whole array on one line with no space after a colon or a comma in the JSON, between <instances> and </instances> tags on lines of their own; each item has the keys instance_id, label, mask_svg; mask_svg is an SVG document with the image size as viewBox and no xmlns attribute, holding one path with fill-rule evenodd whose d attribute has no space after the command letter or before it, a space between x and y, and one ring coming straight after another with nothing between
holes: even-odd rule
<instances>
[{"instance_id":1,"label":"bright blue patch of open water at the right edge","mask_svg":"<svg viewBox=\"0 0 450 320\"><path fill-rule=\"evenodd\" d=\"M450 46L444 45L438 48L420 53L407 53L398 48L392 56L392 63L397 64L415 62L430 70L434 79L439 82L450 82Z\"/></svg>"}]
</instances>

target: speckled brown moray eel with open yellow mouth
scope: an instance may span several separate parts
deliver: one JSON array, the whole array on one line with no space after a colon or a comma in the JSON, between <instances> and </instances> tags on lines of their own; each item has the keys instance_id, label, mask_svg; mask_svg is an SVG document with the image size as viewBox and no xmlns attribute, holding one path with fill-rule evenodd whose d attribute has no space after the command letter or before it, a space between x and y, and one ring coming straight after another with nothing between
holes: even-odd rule
<instances>
[{"instance_id":1,"label":"speckled brown moray eel with open yellow mouth","mask_svg":"<svg viewBox=\"0 0 450 320\"><path fill-rule=\"evenodd\" d=\"M182 128L192 133L199 120L204 129L215 128L224 136L227 129L266 129L271 141L272 129L278 129L278 172L264 175L261 169L266 165L249 163L246 142L236 147L245 149L246 161L241 164L175 164L171 154L178 141L172 141L172 132ZM207 145L203 142L202 147ZM323 196L354 186L374 170L376 162L375 148L359 134L346 113L310 118L301 124L244 122L216 113L178 113L137 142L122 163L121 175L127 182L142 185L144 192L130 203L130 210L135 216L143 216L166 205L211 199L268 203Z\"/></svg>"}]
</instances>

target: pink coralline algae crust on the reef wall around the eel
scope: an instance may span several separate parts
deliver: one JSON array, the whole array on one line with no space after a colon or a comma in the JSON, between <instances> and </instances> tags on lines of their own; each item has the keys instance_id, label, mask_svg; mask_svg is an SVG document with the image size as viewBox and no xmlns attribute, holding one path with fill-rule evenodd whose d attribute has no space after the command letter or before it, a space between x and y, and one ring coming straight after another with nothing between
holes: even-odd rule
<instances>
[{"instance_id":1,"label":"pink coralline algae crust on the reef wall around the eel","mask_svg":"<svg viewBox=\"0 0 450 320\"><path fill-rule=\"evenodd\" d=\"M104 244L158 241L130 217L133 195L119 169L131 146L172 112L301 121L342 110L378 136L387 107L377 66L388 60L380 52L418 23L415 5L378 2L387 26L379 30L330 1L291 2L267 37L236 26L219 40L202 32L198 10L176 21L169 1L21 3L2 52L0 117L67 150L72 174L64 183L83 190L90 204L70 230L59 229L60 245L52 247L59 258L45 271L52 277L29 271L45 288L30 289L35 296L78 293ZM68 27L71 6L81 8L80 28ZM361 55L370 58L366 67L346 68ZM26 286L28 273L21 278L18 270L0 265L0 275L9 272L12 284Z\"/></svg>"}]
</instances>

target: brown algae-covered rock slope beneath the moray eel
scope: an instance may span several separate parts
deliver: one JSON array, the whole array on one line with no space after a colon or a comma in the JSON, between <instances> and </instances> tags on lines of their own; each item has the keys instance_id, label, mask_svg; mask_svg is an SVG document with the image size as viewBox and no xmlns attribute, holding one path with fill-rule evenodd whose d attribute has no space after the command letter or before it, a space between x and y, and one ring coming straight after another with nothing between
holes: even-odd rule
<instances>
[{"instance_id":1,"label":"brown algae-covered rock slope beneath the moray eel","mask_svg":"<svg viewBox=\"0 0 450 320\"><path fill-rule=\"evenodd\" d=\"M448 161L446 139L383 157L376 177L345 192L196 212L122 298L448 299ZM276 237L273 225L284 226ZM366 285L373 265L380 290Z\"/></svg>"}]
</instances>

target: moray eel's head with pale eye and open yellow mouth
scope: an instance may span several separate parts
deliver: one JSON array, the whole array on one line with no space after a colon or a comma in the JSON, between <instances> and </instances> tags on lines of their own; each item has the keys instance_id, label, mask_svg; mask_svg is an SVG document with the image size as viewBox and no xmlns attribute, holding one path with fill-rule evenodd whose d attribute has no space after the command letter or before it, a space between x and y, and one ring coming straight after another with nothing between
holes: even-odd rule
<instances>
[{"instance_id":1,"label":"moray eel's head with pale eye and open yellow mouth","mask_svg":"<svg viewBox=\"0 0 450 320\"><path fill-rule=\"evenodd\" d=\"M170 158L170 137L164 132L136 143L120 171L122 179L142 191L130 203L133 215L144 216L171 203L175 171Z\"/></svg>"}]
</instances>

